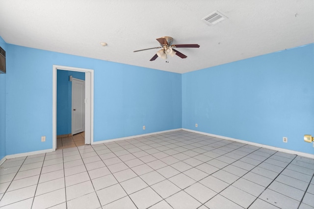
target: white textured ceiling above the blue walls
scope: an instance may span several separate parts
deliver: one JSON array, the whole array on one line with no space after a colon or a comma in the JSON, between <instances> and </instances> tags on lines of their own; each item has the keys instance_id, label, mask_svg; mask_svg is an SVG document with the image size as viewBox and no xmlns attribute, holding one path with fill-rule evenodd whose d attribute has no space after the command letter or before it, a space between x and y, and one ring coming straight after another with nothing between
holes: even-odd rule
<instances>
[{"instance_id":1,"label":"white textured ceiling above the blue walls","mask_svg":"<svg viewBox=\"0 0 314 209\"><path fill-rule=\"evenodd\" d=\"M216 10L228 19L202 20ZM0 0L0 20L8 44L178 73L314 43L314 0ZM133 52L162 36L200 48Z\"/></svg>"}]
</instances>

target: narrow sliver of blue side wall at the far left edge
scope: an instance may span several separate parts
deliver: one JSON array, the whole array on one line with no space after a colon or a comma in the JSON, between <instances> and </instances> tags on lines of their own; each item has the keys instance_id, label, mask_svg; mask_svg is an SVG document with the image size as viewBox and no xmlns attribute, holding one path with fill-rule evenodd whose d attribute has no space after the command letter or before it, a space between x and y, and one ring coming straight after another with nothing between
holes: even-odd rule
<instances>
[{"instance_id":1,"label":"narrow sliver of blue side wall at the far left edge","mask_svg":"<svg viewBox=\"0 0 314 209\"><path fill-rule=\"evenodd\" d=\"M6 43L0 37L0 46L6 51ZM0 74L0 160L6 155L5 152L5 113L6 113L6 74Z\"/></svg>"}]
</instances>

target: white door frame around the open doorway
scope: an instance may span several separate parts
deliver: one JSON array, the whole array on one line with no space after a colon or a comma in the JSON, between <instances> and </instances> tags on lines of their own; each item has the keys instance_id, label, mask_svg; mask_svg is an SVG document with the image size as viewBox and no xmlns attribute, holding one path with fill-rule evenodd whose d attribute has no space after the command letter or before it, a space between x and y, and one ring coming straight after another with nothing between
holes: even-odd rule
<instances>
[{"instance_id":1,"label":"white door frame around the open doorway","mask_svg":"<svg viewBox=\"0 0 314 209\"><path fill-rule=\"evenodd\" d=\"M94 70L52 66L52 149L57 148L57 70L85 72L85 144L94 142Z\"/></svg>"}]
</instances>

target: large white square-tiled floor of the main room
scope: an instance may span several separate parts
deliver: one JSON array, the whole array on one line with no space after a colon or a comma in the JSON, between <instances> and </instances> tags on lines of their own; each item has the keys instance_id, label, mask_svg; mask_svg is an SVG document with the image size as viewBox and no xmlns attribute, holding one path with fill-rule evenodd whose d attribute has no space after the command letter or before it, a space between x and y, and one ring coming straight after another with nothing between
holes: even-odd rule
<instances>
[{"instance_id":1,"label":"large white square-tiled floor of the main room","mask_svg":"<svg viewBox=\"0 0 314 209\"><path fill-rule=\"evenodd\" d=\"M0 209L313 209L314 159L174 131L6 160Z\"/></svg>"}]
</instances>

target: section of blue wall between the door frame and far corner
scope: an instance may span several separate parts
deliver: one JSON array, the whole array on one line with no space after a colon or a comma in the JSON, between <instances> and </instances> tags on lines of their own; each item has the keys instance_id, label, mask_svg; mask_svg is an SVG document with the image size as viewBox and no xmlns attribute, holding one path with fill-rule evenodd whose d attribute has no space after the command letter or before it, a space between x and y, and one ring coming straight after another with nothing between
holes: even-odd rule
<instances>
[{"instance_id":1,"label":"section of blue wall between the door frame and far corner","mask_svg":"<svg viewBox=\"0 0 314 209\"><path fill-rule=\"evenodd\" d=\"M182 127L181 74L97 64L101 70L94 75L95 141Z\"/></svg>"}]
</instances>

